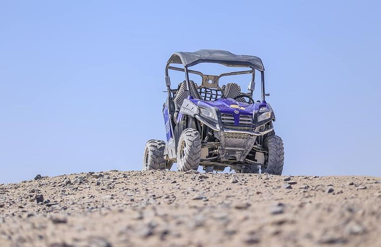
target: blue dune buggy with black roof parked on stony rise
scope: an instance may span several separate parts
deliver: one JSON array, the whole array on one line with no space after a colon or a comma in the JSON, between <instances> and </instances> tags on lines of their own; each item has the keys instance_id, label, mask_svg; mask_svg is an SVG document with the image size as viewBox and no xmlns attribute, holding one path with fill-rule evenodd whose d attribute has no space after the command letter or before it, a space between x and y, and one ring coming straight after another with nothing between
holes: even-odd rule
<instances>
[{"instance_id":1,"label":"blue dune buggy with black roof parked on stony rise","mask_svg":"<svg viewBox=\"0 0 381 247\"><path fill-rule=\"evenodd\" d=\"M243 71L204 75L190 70L199 63L246 67ZM181 64L174 67L172 64ZM171 89L169 70L185 73L185 81ZM260 74L261 100L252 98L255 74ZM200 86L189 74L201 77ZM222 77L251 74L248 92L237 83L220 86ZM265 101L264 67L256 56L235 55L223 50L175 52L165 67L168 96L163 105L166 142L149 140L144 148L143 169L198 169L221 171L227 166L238 173L281 175L284 163L282 139L275 134L275 114Z\"/></svg>"}]
</instances>

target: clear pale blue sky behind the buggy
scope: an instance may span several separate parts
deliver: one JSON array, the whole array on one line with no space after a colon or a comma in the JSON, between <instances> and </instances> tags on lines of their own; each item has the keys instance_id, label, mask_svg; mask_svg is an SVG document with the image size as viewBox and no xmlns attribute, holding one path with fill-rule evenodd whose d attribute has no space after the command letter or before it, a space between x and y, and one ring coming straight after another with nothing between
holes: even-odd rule
<instances>
[{"instance_id":1,"label":"clear pale blue sky behind the buggy","mask_svg":"<svg viewBox=\"0 0 381 247\"><path fill-rule=\"evenodd\" d=\"M381 176L378 1L132 2L1 1L0 183L141 169L200 48L262 58L284 174Z\"/></svg>"}]
</instances>

